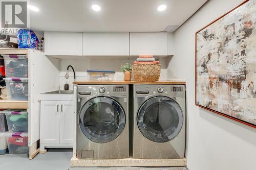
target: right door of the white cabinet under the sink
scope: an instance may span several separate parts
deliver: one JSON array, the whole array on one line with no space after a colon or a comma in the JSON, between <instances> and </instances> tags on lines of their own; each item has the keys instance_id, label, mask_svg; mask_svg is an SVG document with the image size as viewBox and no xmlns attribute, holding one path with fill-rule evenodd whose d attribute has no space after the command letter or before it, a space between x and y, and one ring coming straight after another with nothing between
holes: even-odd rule
<instances>
[{"instance_id":1,"label":"right door of the white cabinet under the sink","mask_svg":"<svg viewBox=\"0 0 256 170\"><path fill-rule=\"evenodd\" d=\"M60 102L60 143L73 143L74 101Z\"/></svg>"}]
</instances>

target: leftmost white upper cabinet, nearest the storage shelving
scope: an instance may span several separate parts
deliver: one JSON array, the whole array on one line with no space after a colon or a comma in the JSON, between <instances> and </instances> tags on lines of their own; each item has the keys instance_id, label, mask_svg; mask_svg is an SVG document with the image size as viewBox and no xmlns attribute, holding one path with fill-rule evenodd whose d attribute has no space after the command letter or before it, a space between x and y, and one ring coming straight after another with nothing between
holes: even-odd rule
<instances>
[{"instance_id":1,"label":"leftmost white upper cabinet, nearest the storage shelving","mask_svg":"<svg viewBox=\"0 0 256 170\"><path fill-rule=\"evenodd\" d=\"M82 56L82 33L45 32L45 55Z\"/></svg>"}]
</instances>

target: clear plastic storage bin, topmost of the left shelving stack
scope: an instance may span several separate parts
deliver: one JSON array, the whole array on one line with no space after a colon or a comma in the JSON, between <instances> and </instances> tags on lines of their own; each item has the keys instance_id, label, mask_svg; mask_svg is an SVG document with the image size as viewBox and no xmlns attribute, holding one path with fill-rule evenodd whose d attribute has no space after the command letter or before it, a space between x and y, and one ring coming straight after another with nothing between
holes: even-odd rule
<instances>
[{"instance_id":1,"label":"clear plastic storage bin, topmost of the left shelving stack","mask_svg":"<svg viewBox=\"0 0 256 170\"><path fill-rule=\"evenodd\" d=\"M2 55L5 60L7 78L28 78L28 59L26 55Z\"/></svg>"}]
</instances>

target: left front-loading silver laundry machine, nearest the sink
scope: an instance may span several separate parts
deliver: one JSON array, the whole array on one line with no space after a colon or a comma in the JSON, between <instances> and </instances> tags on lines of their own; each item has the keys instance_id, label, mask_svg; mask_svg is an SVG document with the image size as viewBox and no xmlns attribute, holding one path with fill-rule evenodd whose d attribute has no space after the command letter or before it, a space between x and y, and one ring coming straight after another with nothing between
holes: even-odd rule
<instances>
[{"instance_id":1,"label":"left front-loading silver laundry machine, nearest the sink","mask_svg":"<svg viewBox=\"0 0 256 170\"><path fill-rule=\"evenodd\" d=\"M77 157L128 158L128 109L128 85L77 85Z\"/></svg>"}]
</instances>

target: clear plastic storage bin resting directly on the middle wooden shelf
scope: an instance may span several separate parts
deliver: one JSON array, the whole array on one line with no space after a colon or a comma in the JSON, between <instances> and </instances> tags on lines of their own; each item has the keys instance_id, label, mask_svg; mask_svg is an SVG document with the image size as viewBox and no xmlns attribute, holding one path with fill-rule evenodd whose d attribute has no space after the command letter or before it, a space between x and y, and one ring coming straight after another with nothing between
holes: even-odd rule
<instances>
[{"instance_id":1,"label":"clear plastic storage bin resting directly on the middle wooden shelf","mask_svg":"<svg viewBox=\"0 0 256 170\"><path fill-rule=\"evenodd\" d=\"M4 78L7 89L7 99L10 101L27 101L29 83L27 78Z\"/></svg>"}]
</instances>

